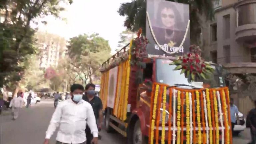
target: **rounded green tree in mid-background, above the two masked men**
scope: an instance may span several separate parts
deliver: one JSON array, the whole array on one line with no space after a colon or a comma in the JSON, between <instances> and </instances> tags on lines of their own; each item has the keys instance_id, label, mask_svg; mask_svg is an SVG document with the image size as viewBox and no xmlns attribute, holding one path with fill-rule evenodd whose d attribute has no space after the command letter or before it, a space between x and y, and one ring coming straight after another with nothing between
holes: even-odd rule
<instances>
[{"instance_id":1,"label":"rounded green tree in mid-background, above the two masked men","mask_svg":"<svg viewBox=\"0 0 256 144\"><path fill-rule=\"evenodd\" d=\"M82 84L86 84L88 79L92 83L93 77L100 75L100 64L110 57L111 51L108 41L99 34L73 37L67 48L67 54L72 59L69 67L75 69Z\"/></svg>"}]
</instances>

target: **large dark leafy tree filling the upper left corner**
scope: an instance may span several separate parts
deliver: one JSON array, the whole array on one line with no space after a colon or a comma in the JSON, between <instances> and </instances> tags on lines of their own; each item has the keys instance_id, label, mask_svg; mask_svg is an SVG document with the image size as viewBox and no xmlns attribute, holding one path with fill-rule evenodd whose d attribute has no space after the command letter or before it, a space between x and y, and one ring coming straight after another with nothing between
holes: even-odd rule
<instances>
[{"instance_id":1,"label":"large dark leafy tree filling the upper left corner","mask_svg":"<svg viewBox=\"0 0 256 144\"><path fill-rule=\"evenodd\" d=\"M47 15L59 17L64 10L60 3L72 3L72 0L4 0L1 1L1 11L5 12L0 52L0 87L8 82L16 83L22 79L26 69L26 61L30 55L37 53L34 47L36 29L31 24L38 24L36 19ZM42 21L42 23L46 23Z\"/></svg>"}]
</instances>

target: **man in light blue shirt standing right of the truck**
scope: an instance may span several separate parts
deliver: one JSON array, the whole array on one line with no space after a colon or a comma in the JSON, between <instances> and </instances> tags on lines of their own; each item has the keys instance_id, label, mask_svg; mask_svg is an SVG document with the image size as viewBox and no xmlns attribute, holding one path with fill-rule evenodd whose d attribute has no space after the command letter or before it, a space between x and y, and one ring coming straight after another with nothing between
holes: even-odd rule
<instances>
[{"instance_id":1,"label":"man in light blue shirt standing right of the truck","mask_svg":"<svg viewBox=\"0 0 256 144\"><path fill-rule=\"evenodd\" d=\"M234 134L234 127L237 124L240 124L239 117L238 117L238 108L234 105L234 99L230 98L230 116L231 116L231 130L232 134Z\"/></svg>"}]
</instances>

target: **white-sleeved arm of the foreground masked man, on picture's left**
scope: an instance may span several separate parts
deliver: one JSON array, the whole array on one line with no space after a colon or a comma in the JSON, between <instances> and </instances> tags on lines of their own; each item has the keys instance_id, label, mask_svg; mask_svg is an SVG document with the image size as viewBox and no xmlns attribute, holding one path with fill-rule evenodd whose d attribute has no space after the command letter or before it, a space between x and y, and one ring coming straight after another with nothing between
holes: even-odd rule
<instances>
[{"instance_id":1,"label":"white-sleeved arm of the foreground masked man, on picture's left","mask_svg":"<svg viewBox=\"0 0 256 144\"><path fill-rule=\"evenodd\" d=\"M59 122L60 122L61 114L62 114L61 109L62 109L62 105L61 104L57 105L57 108L55 109L55 111L52 115L52 119L51 119L48 129L46 131L45 142L49 141L52 134L54 133L56 128L59 126ZM44 143L44 144L48 144L48 143Z\"/></svg>"}]
</instances>

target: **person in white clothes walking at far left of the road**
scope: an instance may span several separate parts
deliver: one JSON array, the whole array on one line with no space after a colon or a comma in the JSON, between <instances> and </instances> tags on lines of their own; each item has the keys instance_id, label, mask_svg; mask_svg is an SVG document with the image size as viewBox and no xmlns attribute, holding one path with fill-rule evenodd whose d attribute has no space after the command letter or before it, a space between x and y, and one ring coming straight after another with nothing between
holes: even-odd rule
<instances>
[{"instance_id":1,"label":"person in white clothes walking at far left of the road","mask_svg":"<svg viewBox=\"0 0 256 144\"><path fill-rule=\"evenodd\" d=\"M12 115L13 115L12 120L16 120L18 118L19 110L22 107L22 103L23 103L23 98L21 96L22 96L22 92L17 93L17 97L14 97L10 102L10 107L12 107Z\"/></svg>"}]
</instances>

